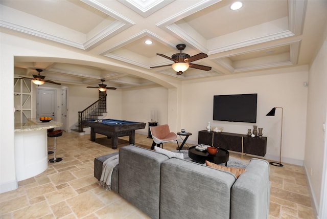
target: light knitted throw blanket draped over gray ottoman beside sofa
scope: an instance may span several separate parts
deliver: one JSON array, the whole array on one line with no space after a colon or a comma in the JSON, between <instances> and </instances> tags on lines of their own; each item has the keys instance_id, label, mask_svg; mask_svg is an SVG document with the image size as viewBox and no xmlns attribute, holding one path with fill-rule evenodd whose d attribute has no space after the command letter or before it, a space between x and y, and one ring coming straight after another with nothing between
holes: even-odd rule
<instances>
[{"instance_id":1,"label":"light knitted throw blanket draped over gray ottoman beside sofa","mask_svg":"<svg viewBox=\"0 0 327 219\"><path fill-rule=\"evenodd\" d=\"M112 156L103 162L102 173L99 181L100 186L107 190L111 189L111 176L113 168L118 165L119 155Z\"/></svg>"}]
</instances>

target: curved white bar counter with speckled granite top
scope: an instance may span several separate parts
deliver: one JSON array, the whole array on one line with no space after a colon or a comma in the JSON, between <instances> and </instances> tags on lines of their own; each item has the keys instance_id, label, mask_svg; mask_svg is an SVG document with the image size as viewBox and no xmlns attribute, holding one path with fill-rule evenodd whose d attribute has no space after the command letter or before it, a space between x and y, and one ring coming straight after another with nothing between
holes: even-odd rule
<instances>
[{"instance_id":1,"label":"curved white bar counter with speckled granite top","mask_svg":"<svg viewBox=\"0 0 327 219\"><path fill-rule=\"evenodd\" d=\"M15 169L16 180L21 181L40 174L48 168L49 128L58 128L57 121L41 122L29 119L15 124Z\"/></svg>"}]
</instances>

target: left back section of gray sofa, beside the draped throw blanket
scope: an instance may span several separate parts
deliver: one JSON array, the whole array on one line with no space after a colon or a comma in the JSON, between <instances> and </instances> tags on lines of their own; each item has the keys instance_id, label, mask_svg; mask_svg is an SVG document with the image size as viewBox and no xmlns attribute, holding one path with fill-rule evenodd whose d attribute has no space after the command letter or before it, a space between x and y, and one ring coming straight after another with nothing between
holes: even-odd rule
<instances>
[{"instance_id":1,"label":"left back section of gray sofa, beside the draped throw blanket","mask_svg":"<svg viewBox=\"0 0 327 219\"><path fill-rule=\"evenodd\" d=\"M160 165L168 159L134 145L119 149L118 193L151 218L159 218Z\"/></svg>"}]
</instances>

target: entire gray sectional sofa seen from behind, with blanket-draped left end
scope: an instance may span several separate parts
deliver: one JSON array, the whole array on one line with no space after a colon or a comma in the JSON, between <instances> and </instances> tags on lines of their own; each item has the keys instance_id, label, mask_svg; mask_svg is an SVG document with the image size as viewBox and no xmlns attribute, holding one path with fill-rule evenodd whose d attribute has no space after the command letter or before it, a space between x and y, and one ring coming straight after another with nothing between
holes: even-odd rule
<instances>
[{"instance_id":1,"label":"entire gray sectional sofa seen from behind, with blanket-draped left end","mask_svg":"<svg viewBox=\"0 0 327 219\"><path fill-rule=\"evenodd\" d=\"M109 156L95 159L98 180L100 164ZM268 218L269 188L265 160L252 159L236 179L135 145L120 148L119 167L112 173L112 190L151 218Z\"/></svg>"}]
</instances>

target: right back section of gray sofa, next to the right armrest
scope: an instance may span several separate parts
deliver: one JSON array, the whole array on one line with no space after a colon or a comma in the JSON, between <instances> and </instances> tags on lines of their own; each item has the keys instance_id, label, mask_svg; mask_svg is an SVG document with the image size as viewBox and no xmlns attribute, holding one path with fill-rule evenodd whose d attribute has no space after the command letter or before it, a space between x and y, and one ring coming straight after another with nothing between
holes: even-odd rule
<instances>
[{"instance_id":1,"label":"right back section of gray sofa, next to the right armrest","mask_svg":"<svg viewBox=\"0 0 327 219\"><path fill-rule=\"evenodd\" d=\"M160 179L160 218L229 218L236 180L230 172L171 158L161 164Z\"/></svg>"}]
</instances>

